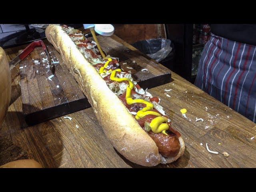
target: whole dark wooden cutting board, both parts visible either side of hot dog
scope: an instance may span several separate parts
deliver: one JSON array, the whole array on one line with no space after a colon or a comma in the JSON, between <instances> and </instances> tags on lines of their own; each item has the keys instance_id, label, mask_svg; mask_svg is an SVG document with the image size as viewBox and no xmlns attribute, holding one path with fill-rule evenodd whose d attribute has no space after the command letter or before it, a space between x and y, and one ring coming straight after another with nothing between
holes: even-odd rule
<instances>
[{"instance_id":1,"label":"whole dark wooden cutting board, both parts visible either side of hot dog","mask_svg":"<svg viewBox=\"0 0 256 192\"><path fill-rule=\"evenodd\" d=\"M114 35L98 36L104 52L118 57L120 66L130 71L134 81L138 82L142 88L152 88L170 82L170 70L135 48L134 50L127 48L126 42L119 43L116 39L118 37ZM20 62L22 112L28 125L38 124L90 107L87 98L63 63L60 54L47 40L44 42L56 66L52 78L49 79L52 72L42 47L35 48Z\"/></svg>"}]
</instances>

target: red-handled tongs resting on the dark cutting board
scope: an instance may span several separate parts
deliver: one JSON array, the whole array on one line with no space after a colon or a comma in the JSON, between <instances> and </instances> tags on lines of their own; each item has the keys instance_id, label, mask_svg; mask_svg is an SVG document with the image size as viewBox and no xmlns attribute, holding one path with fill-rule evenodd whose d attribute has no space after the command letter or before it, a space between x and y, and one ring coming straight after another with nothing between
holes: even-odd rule
<instances>
[{"instance_id":1,"label":"red-handled tongs resting on the dark cutting board","mask_svg":"<svg viewBox=\"0 0 256 192\"><path fill-rule=\"evenodd\" d=\"M47 59L48 59L48 63L50 65L51 70L53 69L52 66L52 62L51 62L51 58L50 55L46 49L46 46L44 45L44 42L42 40L37 40L32 42L31 44L29 44L24 50L22 50L22 52L20 54L18 54L10 63L10 70L12 70L21 60L23 60L24 58L26 58L26 56L28 56L35 47L37 46L42 46L42 48L44 49L44 52L46 53Z\"/></svg>"}]
</instances>

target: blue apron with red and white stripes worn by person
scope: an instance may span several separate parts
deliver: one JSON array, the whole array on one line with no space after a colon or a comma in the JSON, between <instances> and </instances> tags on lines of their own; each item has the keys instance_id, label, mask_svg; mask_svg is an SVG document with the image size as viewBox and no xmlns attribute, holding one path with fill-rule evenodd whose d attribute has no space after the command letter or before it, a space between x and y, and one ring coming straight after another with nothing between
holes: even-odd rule
<instances>
[{"instance_id":1,"label":"blue apron with red and white stripes worn by person","mask_svg":"<svg viewBox=\"0 0 256 192\"><path fill-rule=\"evenodd\" d=\"M211 34L195 85L256 122L256 46Z\"/></svg>"}]
</instances>

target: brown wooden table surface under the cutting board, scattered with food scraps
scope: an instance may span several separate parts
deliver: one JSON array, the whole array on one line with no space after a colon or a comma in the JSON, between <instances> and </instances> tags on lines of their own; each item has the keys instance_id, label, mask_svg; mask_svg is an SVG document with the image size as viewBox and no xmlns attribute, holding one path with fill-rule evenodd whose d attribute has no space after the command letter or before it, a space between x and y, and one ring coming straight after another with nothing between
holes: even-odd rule
<instances>
[{"instance_id":1,"label":"brown wooden table surface under the cutting board, scattered with food scraps","mask_svg":"<svg viewBox=\"0 0 256 192\"><path fill-rule=\"evenodd\" d=\"M113 38L136 50L116 36ZM8 60L26 45L5 49ZM134 58L136 60L136 58ZM126 160L110 144L92 108L27 127L22 116L19 66L12 70L12 97L0 135L28 151L30 158L45 168L130 168L142 167ZM164 90L172 89L170 92ZM160 104L182 134L186 148L176 162L162 168L256 167L256 124L209 96L172 72L168 84L148 90L161 98ZM166 96L167 93L170 97ZM180 109L186 108L185 119ZM197 118L204 121L196 122ZM200 144L203 145L200 145ZM206 150L219 154L211 154ZM228 152L225 157L222 153Z\"/></svg>"}]
</instances>

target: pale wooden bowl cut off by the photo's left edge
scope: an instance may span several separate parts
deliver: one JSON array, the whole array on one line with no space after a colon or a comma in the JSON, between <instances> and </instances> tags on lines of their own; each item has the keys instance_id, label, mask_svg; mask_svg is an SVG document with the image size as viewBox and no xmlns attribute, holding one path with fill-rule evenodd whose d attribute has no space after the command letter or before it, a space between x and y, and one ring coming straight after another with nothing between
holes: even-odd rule
<instances>
[{"instance_id":1,"label":"pale wooden bowl cut off by the photo's left edge","mask_svg":"<svg viewBox=\"0 0 256 192\"><path fill-rule=\"evenodd\" d=\"M0 128L11 99L11 72L4 50L0 47Z\"/></svg>"}]
</instances>

